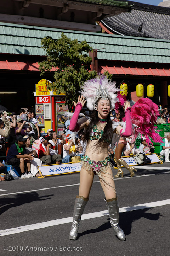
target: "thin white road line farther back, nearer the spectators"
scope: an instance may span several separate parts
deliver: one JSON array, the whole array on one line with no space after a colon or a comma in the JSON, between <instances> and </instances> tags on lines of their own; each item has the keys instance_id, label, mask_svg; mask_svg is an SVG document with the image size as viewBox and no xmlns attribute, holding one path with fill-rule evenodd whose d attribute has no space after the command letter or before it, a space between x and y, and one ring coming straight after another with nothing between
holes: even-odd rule
<instances>
[{"instance_id":1,"label":"thin white road line farther back, nearer the spectators","mask_svg":"<svg viewBox=\"0 0 170 256\"><path fill-rule=\"evenodd\" d=\"M142 167L142 166L139 166L139 167ZM146 168L146 167L145 167ZM152 167L155 169L155 167ZM162 168L162 167L161 167ZM148 167L148 169L151 169L151 167ZM163 168L165 169L165 168ZM170 168L167 168L167 169L170 169ZM156 168L156 170L158 170L158 168ZM165 169L166 170L166 169ZM157 174L143 174L143 175L140 175L140 176L135 176L135 178L138 178L138 177L147 177L147 176L152 176L152 175L161 175L161 174L168 174L170 173L170 171L168 172L161 172L161 173L157 173ZM115 180L116 181L119 181L119 180L125 180L126 178L134 178L134 177L123 177L123 178L116 178ZM97 182L100 182L100 181L94 181L93 183L97 183ZM12 194L21 194L21 193L28 193L28 192L34 192L34 191L41 191L41 190L49 190L49 189L53 189L53 188L62 188L62 187L70 187L70 186L78 186L80 185L80 183L77 183L77 184L70 184L70 185L64 185L64 186L57 186L57 187L49 187L49 188L40 188L40 189L37 189L37 190L27 190L27 191L21 191L21 192L15 192L15 193L8 193L8 194L0 194L0 196L9 196L9 195L12 195ZM2 190L2 191L5 191L5 190ZM1 191L0 191L1 192Z\"/></svg>"}]
</instances>

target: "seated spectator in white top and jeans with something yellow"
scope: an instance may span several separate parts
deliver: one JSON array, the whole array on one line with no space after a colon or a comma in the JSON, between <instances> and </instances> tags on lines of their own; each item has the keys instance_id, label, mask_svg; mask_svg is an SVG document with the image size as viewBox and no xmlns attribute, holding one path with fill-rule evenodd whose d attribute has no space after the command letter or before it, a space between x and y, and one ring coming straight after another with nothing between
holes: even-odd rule
<instances>
[{"instance_id":1,"label":"seated spectator in white top and jeans with something yellow","mask_svg":"<svg viewBox=\"0 0 170 256\"><path fill-rule=\"evenodd\" d=\"M68 137L68 143L64 144L63 146L63 159L62 163L68 163L71 162L71 157L76 156L77 146L74 145L73 139L69 139Z\"/></svg>"}]
</instances>

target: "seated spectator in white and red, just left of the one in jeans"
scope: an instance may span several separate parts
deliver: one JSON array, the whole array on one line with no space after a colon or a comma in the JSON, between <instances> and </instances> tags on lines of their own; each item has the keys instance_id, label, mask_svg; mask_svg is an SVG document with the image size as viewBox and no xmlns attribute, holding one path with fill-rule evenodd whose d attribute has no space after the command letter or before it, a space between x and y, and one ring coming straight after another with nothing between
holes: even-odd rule
<instances>
[{"instance_id":1,"label":"seated spectator in white and red, just left of the one in jeans","mask_svg":"<svg viewBox=\"0 0 170 256\"><path fill-rule=\"evenodd\" d=\"M61 139L57 139L57 133L55 131L51 131L49 143L50 146L50 155L58 155L58 145L65 144L65 139L61 135Z\"/></svg>"}]
</instances>

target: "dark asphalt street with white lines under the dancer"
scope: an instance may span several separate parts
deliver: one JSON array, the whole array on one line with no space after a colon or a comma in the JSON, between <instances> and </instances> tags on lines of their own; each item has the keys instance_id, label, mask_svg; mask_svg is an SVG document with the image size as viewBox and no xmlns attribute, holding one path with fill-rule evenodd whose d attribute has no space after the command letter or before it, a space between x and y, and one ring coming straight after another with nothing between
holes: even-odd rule
<instances>
[{"instance_id":1,"label":"dark asphalt street with white lines under the dancer","mask_svg":"<svg viewBox=\"0 0 170 256\"><path fill-rule=\"evenodd\" d=\"M115 185L126 241L115 237L109 216L100 213L107 204L97 175L76 241L68 236L79 173L0 182L0 256L169 256L170 164L140 167L132 178L123 170Z\"/></svg>"}]
</instances>

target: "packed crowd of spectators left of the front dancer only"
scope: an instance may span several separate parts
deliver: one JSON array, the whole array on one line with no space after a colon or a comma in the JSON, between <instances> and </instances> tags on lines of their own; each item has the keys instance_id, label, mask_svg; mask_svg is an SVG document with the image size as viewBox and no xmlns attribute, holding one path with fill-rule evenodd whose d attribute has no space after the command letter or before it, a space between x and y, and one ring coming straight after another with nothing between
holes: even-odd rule
<instances>
[{"instance_id":1,"label":"packed crowd of spectators left of the front dancer only","mask_svg":"<svg viewBox=\"0 0 170 256\"><path fill-rule=\"evenodd\" d=\"M86 148L82 134L80 132L77 135L74 144L73 139L69 138L72 132L69 132L67 132L68 139L66 137L66 140L52 129L47 130L47 134L41 136L32 110L22 108L18 115L15 112L2 112L0 116L0 173L5 173L5 166L1 160L5 158L6 165L19 167L21 178L30 178L41 176L37 168L40 165L68 163L71 162L72 156L81 157ZM40 145L38 150L32 149L34 141ZM0 181L3 180L3 176L0 176Z\"/></svg>"}]
</instances>

